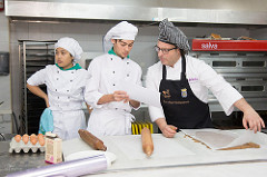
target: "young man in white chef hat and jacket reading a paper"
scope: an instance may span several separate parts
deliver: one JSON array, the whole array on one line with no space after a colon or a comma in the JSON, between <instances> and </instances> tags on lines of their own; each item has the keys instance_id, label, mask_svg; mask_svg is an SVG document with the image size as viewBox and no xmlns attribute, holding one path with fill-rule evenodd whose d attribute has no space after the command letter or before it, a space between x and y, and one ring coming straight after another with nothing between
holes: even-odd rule
<instances>
[{"instance_id":1,"label":"young man in white chef hat and jacket reading a paper","mask_svg":"<svg viewBox=\"0 0 267 177\"><path fill-rule=\"evenodd\" d=\"M95 58L89 68L86 101L93 110L88 130L95 136L131 134L134 116L140 102L131 100L126 91L117 88L121 81L141 86L141 68L129 58L138 29L122 21L105 36L106 53Z\"/></svg>"}]
</instances>

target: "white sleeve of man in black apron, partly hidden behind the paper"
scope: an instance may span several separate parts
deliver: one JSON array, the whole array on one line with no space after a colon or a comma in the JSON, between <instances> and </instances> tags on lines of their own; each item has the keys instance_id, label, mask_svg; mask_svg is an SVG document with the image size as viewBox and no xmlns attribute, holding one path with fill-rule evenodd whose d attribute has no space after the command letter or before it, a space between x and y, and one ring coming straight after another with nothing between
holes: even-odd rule
<instances>
[{"instance_id":1,"label":"white sleeve of man in black apron, partly hidden behind the paper","mask_svg":"<svg viewBox=\"0 0 267 177\"><path fill-rule=\"evenodd\" d=\"M151 68L148 68L147 78L146 78L146 87L156 91L159 90L159 82L160 82L160 78L157 78L157 73L158 72L152 71ZM165 118L162 107L157 108L154 106L149 106L148 111L149 111L151 121L156 121L158 118Z\"/></svg>"}]
</instances>

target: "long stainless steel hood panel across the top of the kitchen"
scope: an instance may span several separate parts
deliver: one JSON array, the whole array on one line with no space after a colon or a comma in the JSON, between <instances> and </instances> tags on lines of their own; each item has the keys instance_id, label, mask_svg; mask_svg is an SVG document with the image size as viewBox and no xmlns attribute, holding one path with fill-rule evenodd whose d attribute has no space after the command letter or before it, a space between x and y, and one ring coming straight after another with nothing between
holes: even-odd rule
<instances>
[{"instance_id":1,"label":"long stainless steel hood panel across the top of the kitchen","mask_svg":"<svg viewBox=\"0 0 267 177\"><path fill-rule=\"evenodd\" d=\"M6 14L137 21L169 18L176 22L267 24L267 3L264 1L254 0L251 6L250 0L7 0Z\"/></svg>"}]
</instances>

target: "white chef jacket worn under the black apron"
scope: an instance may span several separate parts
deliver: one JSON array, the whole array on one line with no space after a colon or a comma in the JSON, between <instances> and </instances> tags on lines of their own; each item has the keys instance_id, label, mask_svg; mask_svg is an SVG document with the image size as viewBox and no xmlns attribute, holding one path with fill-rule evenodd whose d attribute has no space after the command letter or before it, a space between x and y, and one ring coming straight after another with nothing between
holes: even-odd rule
<instances>
[{"instance_id":1,"label":"white chef jacket worn under the black apron","mask_svg":"<svg viewBox=\"0 0 267 177\"><path fill-rule=\"evenodd\" d=\"M181 58L175 63L174 68L166 66L168 80L180 80ZM234 104L243 96L218 75L205 61L186 56L186 77L195 96L208 102L208 90L218 99L225 114L228 116L234 110ZM158 61L148 68L146 87L159 91L159 85L162 79L162 63ZM149 106L149 115L152 121L158 118L165 118L162 108Z\"/></svg>"}]
</instances>

